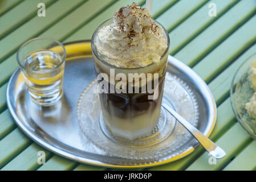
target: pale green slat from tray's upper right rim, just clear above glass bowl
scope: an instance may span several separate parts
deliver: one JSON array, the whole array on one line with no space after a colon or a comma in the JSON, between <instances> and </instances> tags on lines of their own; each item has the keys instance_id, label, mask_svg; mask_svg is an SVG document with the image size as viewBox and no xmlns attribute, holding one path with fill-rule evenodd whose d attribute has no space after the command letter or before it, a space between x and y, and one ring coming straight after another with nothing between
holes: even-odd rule
<instances>
[{"instance_id":1,"label":"pale green slat from tray's upper right rim, just clear above glass bowl","mask_svg":"<svg viewBox=\"0 0 256 182\"><path fill-rule=\"evenodd\" d=\"M214 76L225 69L235 57L245 51L251 44L255 43L255 24L256 15L200 61L200 63L193 68L194 71L206 82L210 81ZM218 59L216 59L216 57L218 57Z\"/></svg>"}]
</instances>

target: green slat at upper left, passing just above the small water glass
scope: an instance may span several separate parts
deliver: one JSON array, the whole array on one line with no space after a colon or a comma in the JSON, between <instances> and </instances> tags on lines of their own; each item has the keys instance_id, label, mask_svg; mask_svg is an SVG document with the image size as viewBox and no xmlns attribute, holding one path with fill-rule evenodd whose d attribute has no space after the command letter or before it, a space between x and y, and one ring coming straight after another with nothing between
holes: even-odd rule
<instances>
[{"instance_id":1,"label":"green slat at upper left, passing just above the small water glass","mask_svg":"<svg viewBox=\"0 0 256 182\"><path fill-rule=\"evenodd\" d=\"M26 40L34 38L69 14L84 0L57 1L46 10L45 17L35 16L0 41L0 63L13 54ZM15 40L15 41L14 41Z\"/></svg>"}]
</instances>

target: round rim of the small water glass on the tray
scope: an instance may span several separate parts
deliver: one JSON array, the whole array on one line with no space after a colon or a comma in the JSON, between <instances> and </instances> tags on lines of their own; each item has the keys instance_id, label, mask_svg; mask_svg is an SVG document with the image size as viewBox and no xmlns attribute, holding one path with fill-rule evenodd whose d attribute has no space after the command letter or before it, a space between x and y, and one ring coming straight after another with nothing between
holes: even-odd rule
<instances>
[{"instance_id":1,"label":"round rim of the small water glass on the tray","mask_svg":"<svg viewBox=\"0 0 256 182\"><path fill-rule=\"evenodd\" d=\"M19 49L17 51L17 54L16 54L16 59L17 59L17 62L19 64L19 67L21 67L22 69L25 69L27 72L35 72L35 71L31 71L31 70L25 68L22 65L21 60L19 59L19 52L21 51L21 49L23 47L25 47L27 44L29 44L31 42L34 42L35 40L46 40L46 39L51 40L52 42L55 42L55 43L59 44L59 46L61 46L63 48L63 51L64 51L64 56L62 58L62 61L55 68L49 69L49 72L54 71L55 69L58 69L60 67L60 65L62 65L65 62L66 57L67 57L67 51L66 51L66 48L64 47L64 45L61 42L59 42L58 40L56 40L54 38L38 37L38 38L27 40L25 43L22 44L21 47L19 47ZM54 47L56 47L56 46L54 46Z\"/></svg>"}]
</instances>

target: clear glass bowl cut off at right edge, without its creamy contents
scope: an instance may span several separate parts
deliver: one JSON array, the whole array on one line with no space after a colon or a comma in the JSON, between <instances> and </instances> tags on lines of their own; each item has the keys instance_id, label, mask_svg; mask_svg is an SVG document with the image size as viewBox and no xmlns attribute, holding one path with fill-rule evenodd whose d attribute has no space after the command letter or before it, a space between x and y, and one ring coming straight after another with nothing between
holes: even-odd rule
<instances>
[{"instance_id":1,"label":"clear glass bowl cut off at right edge, without its creamy contents","mask_svg":"<svg viewBox=\"0 0 256 182\"><path fill-rule=\"evenodd\" d=\"M235 72L231 83L230 97L235 117L243 128L256 140L256 118L251 118L245 109L245 104L250 101L254 94L249 80L249 71L253 62L256 61L256 53L250 56Z\"/></svg>"}]
</instances>

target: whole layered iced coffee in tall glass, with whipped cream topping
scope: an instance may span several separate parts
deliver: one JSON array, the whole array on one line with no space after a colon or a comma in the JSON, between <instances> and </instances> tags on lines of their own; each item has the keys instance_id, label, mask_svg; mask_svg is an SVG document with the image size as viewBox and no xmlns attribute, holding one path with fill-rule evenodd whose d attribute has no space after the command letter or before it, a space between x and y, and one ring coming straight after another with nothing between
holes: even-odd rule
<instances>
[{"instance_id":1,"label":"whole layered iced coffee in tall glass, with whipped cream topping","mask_svg":"<svg viewBox=\"0 0 256 182\"><path fill-rule=\"evenodd\" d=\"M121 7L94 32L101 110L113 135L132 140L157 125L168 49L164 27L137 3Z\"/></svg>"}]
</instances>

